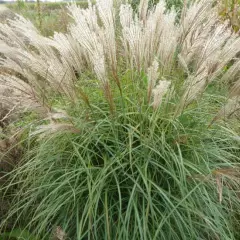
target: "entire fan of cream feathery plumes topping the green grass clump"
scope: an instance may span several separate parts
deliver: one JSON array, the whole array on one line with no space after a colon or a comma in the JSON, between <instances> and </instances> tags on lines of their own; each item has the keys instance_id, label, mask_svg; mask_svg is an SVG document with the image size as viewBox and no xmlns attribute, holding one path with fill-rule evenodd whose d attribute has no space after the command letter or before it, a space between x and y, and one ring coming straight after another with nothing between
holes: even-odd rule
<instances>
[{"instance_id":1,"label":"entire fan of cream feathery plumes topping the green grass clump","mask_svg":"<svg viewBox=\"0 0 240 240\"><path fill-rule=\"evenodd\" d=\"M46 112L51 107L45 99L53 92L73 102L80 92L88 101L79 77L90 72L113 112L113 88L117 85L124 94L121 74L131 71L146 74L148 83L142 87L154 109L174 89L179 115L210 83L219 81L233 87L225 110L218 114L235 112L239 107L240 37L219 20L212 1L185 7L180 19L174 9L166 9L164 0L153 8L148 5L148 0L141 0L137 13L129 4L116 8L113 0L89 1L87 9L69 5L74 22L68 33L55 33L52 38L43 37L21 16L0 24L0 85L10 88L14 99L0 92L1 101L38 105ZM173 81L179 72L184 81Z\"/></svg>"}]
</instances>

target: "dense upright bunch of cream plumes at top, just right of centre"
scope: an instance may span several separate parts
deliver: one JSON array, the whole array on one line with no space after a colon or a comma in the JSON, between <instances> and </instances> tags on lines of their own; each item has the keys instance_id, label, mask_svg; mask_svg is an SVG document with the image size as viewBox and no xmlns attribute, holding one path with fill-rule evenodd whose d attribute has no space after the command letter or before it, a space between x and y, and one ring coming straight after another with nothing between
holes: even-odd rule
<instances>
[{"instance_id":1,"label":"dense upright bunch of cream plumes at top, just right of centre","mask_svg":"<svg viewBox=\"0 0 240 240\"><path fill-rule=\"evenodd\" d=\"M146 12L142 1L140 8ZM176 13L166 11L165 3L160 1L142 21L141 17L133 16L129 5L120 8L120 22L122 25L122 44L125 57L131 68L138 71L145 70L157 57L163 71L170 72L177 48L179 30L175 26ZM159 24L161 22L161 24Z\"/></svg>"}]
</instances>

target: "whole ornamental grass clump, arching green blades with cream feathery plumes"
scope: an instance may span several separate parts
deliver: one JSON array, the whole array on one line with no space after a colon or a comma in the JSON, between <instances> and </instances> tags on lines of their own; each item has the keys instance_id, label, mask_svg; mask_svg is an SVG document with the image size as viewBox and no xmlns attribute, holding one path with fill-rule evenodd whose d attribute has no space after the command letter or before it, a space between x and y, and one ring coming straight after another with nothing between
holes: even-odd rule
<instances>
[{"instance_id":1,"label":"whole ornamental grass clump, arching green blades with cream feathery plumes","mask_svg":"<svg viewBox=\"0 0 240 240\"><path fill-rule=\"evenodd\" d=\"M52 38L21 16L0 25L2 102L33 115L2 229L238 239L240 37L212 1L177 21L164 1L68 10L68 33Z\"/></svg>"}]
</instances>

